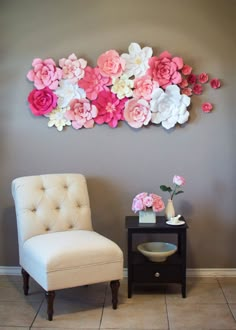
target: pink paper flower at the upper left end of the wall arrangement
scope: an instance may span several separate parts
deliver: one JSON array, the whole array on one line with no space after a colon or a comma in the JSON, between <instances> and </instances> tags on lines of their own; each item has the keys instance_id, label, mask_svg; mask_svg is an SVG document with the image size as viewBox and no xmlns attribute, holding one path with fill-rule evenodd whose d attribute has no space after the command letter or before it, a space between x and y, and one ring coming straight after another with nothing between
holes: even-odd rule
<instances>
[{"instance_id":1,"label":"pink paper flower at the upper left end of the wall arrangement","mask_svg":"<svg viewBox=\"0 0 236 330\"><path fill-rule=\"evenodd\" d=\"M27 73L27 78L34 82L37 89L49 87L54 90L58 87L58 81L62 78L62 70L56 67L53 59L42 60L35 58L32 63L33 69Z\"/></svg>"}]
</instances>

